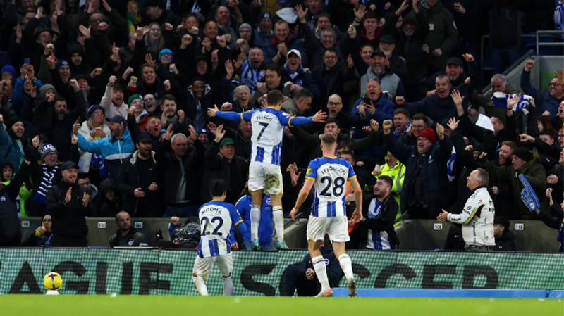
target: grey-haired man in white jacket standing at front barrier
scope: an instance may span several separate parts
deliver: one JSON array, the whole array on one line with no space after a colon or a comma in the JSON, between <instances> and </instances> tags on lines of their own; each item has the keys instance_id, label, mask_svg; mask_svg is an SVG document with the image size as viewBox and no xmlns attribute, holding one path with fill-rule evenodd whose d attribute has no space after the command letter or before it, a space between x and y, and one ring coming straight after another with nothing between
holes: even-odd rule
<instances>
[{"instance_id":1,"label":"grey-haired man in white jacket standing at front barrier","mask_svg":"<svg viewBox=\"0 0 564 316\"><path fill-rule=\"evenodd\" d=\"M477 168L466 178L466 187L472 190L464 210L460 214L450 214L446 210L437 216L439 222L462 224L462 238L467 251L493 251L494 238L494 202L488 193L489 175L486 170Z\"/></svg>"}]
</instances>

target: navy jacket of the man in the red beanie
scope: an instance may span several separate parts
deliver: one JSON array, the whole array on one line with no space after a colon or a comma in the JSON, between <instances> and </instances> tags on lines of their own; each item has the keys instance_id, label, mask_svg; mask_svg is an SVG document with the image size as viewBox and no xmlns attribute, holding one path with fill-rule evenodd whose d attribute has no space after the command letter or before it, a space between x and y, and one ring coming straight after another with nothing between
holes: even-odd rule
<instances>
[{"instance_id":1,"label":"navy jacket of the man in the red beanie","mask_svg":"<svg viewBox=\"0 0 564 316\"><path fill-rule=\"evenodd\" d=\"M403 180L403 192L401 194L401 211L405 213L409 206L408 198L412 192L413 175L417 168L419 153L417 146L407 146L400 143L393 133L384 135L384 146L388 148L393 156L398 158L400 163L405 165L405 178ZM424 179L425 203L429 209L429 218L436 218L441 213L446 202L445 192L448 191L448 179L446 177L446 163L450 158L453 145L445 135L443 140L439 140L431 147L424 157L421 175Z\"/></svg>"}]
</instances>

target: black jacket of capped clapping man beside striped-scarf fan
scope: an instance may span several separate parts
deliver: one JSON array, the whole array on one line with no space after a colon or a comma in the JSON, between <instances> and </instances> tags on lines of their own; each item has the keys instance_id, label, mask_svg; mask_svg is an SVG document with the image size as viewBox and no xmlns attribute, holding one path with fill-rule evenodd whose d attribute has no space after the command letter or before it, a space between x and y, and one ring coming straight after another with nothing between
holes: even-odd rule
<instances>
[{"instance_id":1,"label":"black jacket of capped clapping man beside striped-scarf fan","mask_svg":"<svg viewBox=\"0 0 564 316\"><path fill-rule=\"evenodd\" d=\"M67 204L65 196L69 187L73 190L71 201ZM76 183L69 185L63 179L47 191L46 213L51 215L53 234L74 238L85 238L88 235L85 217L92 216L94 212L90 203L86 207L82 206L82 196L85 192L85 187Z\"/></svg>"}]
</instances>

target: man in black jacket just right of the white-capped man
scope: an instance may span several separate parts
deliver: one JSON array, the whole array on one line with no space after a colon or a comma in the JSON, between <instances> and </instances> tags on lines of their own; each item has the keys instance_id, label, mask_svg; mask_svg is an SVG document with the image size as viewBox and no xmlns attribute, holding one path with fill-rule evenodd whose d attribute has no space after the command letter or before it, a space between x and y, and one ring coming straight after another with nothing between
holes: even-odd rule
<instances>
[{"instance_id":1,"label":"man in black jacket just right of the white-capped man","mask_svg":"<svg viewBox=\"0 0 564 316\"><path fill-rule=\"evenodd\" d=\"M329 99L331 94L343 94L343 82L353 79L355 76L355 64L353 61L343 62L339 58L337 50L329 48L323 55L323 65L317 65L312 70L317 87L321 89L321 98L314 99L313 110L323 108L323 100Z\"/></svg>"}]
</instances>

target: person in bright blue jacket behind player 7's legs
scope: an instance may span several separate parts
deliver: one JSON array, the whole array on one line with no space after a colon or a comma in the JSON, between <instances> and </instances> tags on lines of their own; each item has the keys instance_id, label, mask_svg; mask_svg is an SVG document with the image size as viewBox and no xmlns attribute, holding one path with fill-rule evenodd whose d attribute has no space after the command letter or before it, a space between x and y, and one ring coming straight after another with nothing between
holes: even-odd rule
<instances>
[{"instance_id":1,"label":"person in bright blue jacket behind player 7's legs","mask_svg":"<svg viewBox=\"0 0 564 316\"><path fill-rule=\"evenodd\" d=\"M248 183L248 182L247 182ZM239 198L235 207L239 211L239 215L243 218L243 222L247 227L251 225L251 203L252 198L250 192ZM270 196L264 194L262 198L262 208L260 210L259 221L259 245L260 250L274 251L274 244L272 244L272 203ZM231 227L231 249L241 248L243 250L252 250L252 240L250 229L243 234L243 241L238 245L235 240L235 226Z\"/></svg>"}]
</instances>

